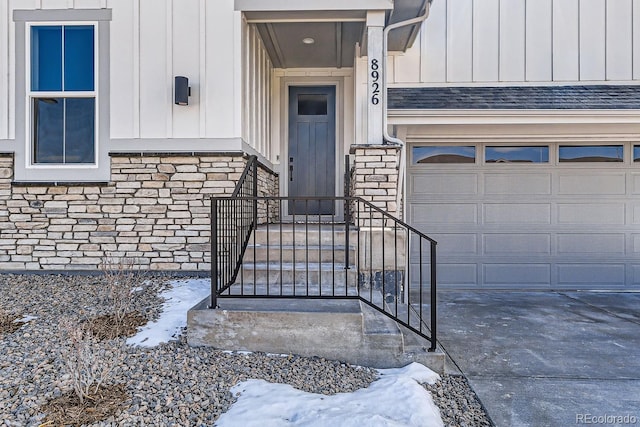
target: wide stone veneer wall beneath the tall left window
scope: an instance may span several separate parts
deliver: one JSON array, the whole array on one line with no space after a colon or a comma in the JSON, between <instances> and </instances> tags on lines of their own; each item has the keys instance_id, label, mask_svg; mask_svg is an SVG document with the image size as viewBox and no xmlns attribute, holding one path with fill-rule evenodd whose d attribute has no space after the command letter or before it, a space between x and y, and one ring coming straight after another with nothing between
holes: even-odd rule
<instances>
[{"instance_id":1,"label":"wide stone veneer wall beneath the tall left window","mask_svg":"<svg viewBox=\"0 0 640 427\"><path fill-rule=\"evenodd\" d=\"M240 154L113 154L108 183L21 184L2 154L0 270L95 270L108 257L208 270L209 197L230 195L245 164ZM277 175L258 173L260 195L277 195Z\"/></svg>"}]
</instances>

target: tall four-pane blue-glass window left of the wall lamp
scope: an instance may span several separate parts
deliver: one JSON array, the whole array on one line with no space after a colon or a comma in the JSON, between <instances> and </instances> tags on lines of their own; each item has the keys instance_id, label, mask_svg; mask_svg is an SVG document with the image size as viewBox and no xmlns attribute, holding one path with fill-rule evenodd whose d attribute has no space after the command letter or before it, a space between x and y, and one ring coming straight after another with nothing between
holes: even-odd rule
<instances>
[{"instance_id":1,"label":"tall four-pane blue-glass window left of the wall lamp","mask_svg":"<svg viewBox=\"0 0 640 427\"><path fill-rule=\"evenodd\" d=\"M30 27L31 164L96 163L95 25Z\"/></svg>"}]
</instances>

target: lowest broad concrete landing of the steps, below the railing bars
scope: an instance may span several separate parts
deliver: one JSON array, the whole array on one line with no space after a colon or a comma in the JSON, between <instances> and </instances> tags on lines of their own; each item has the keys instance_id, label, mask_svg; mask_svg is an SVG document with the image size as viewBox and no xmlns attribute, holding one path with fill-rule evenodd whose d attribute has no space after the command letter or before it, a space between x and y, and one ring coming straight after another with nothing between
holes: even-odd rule
<instances>
[{"instance_id":1,"label":"lowest broad concrete landing of the steps, below the railing bars","mask_svg":"<svg viewBox=\"0 0 640 427\"><path fill-rule=\"evenodd\" d=\"M444 354L414 345L390 318L358 300L223 298L189 310L187 342L224 350L317 356L376 368L418 361L442 372ZM413 338L417 341L417 338Z\"/></svg>"}]
</instances>

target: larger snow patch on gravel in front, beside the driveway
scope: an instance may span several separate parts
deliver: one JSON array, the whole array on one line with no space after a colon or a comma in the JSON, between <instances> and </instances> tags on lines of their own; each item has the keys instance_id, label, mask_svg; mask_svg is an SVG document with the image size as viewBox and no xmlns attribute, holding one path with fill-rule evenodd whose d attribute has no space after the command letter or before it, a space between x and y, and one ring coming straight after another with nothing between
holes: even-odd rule
<instances>
[{"instance_id":1,"label":"larger snow patch on gravel in front, beside the driveway","mask_svg":"<svg viewBox=\"0 0 640 427\"><path fill-rule=\"evenodd\" d=\"M307 393L285 384L248 380L231 391L238 400L216 426L400 427L442 426L440 412L420 384L433 384L438 374L412 363L381 369L368 388L333 396Z\"/></svg>"}]
</instances>

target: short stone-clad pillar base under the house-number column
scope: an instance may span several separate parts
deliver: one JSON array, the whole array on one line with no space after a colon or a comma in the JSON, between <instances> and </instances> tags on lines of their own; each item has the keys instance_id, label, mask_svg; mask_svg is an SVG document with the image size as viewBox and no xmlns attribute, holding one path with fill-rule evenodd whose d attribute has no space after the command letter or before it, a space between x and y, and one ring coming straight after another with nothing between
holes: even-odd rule
<instances>
[{"instance_id":1,"label":"short stone-clad pillar base under the house-number column","mask_svg":"<svg viewBox=\"0 0 640 427\"><path fill-rule=\"evenodd\" d=\"M402 219L398 204L398 160L401 147L353 145L352 195L370 201L396 218Z\"/></svg>"}]
</instances>

